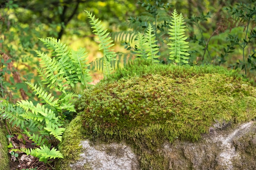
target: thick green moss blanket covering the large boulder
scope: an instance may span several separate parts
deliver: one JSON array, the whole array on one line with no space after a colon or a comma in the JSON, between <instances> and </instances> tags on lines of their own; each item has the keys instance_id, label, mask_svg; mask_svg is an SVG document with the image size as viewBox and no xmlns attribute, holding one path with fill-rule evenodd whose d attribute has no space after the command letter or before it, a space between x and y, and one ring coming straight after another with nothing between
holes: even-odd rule
<instances>
[{"instance_id":1,"label":"thick green moss blanket covering the large boulder","mask_svg":"<svg viewBox=\"0 0 256 170\"><path fill-rule=\"evenodd\" d=\"M77 117L63 135L70 169L81 141L125 142L143 170L165 170L166 141L198 141L213 125L234 125L256 117L256 88L236 71L219 66L167 66L138 60L85 91ZM189 167L193 169L193 166Z\"/></svg>"}]
</instances>

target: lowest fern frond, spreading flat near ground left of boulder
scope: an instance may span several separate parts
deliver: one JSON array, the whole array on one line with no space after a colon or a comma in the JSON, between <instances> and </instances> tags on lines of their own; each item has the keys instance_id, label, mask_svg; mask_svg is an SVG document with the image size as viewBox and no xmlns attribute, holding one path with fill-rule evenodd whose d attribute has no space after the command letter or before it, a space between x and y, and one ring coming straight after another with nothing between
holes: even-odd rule
<instances>
[{"instance_id":1,"label":"lowest fern frond, spreading flat near ground left of boulder","mask_svg":"<svg viewBox=\"0 0 256 170\"><path fill-rule=\"evenodd\" d=\"M42 161L44 163L47 163L49 159L55 159L55 158L63 158L63 154L56 150L55 148L52 148L51 150L43 145L40 146L40 148L36 149L28 149L28 148L21 148L20 149L22 152L25 152L27 155L32 155L34 157L38 157L39 161Z\"/></svg>"}]
</instances>

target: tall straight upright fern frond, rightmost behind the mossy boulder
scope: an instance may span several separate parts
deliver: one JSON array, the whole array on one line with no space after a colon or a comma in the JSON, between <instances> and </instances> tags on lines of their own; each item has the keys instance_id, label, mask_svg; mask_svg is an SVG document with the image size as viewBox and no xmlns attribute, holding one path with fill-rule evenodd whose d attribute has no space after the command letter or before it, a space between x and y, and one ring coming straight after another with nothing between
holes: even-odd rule
<instances>
[{"instance_id":1,"label":"tall straight upright fern frond, rightmost behind the mossy boulder","mask_svg":"<svg viewBox=\"0 0 256 170\"><path fill-rule=\"evenodd\" d=\"M189 59L189 57L186 57L189 55L189 53L187 53L187 48L189 48L189 46L187 46L186 44L188 44L189 42L185 42L185 40L187 39L184 35L184 31L185 31L185 27L183 26L184 24L184 18L182 13L180 13L180 15L177 14L177 11L174 10L173 11L173 20L170 22L171 23L171 29L169 29L169 33L171 35L171 37L169 38L171 40L170 43L168 43L167 45L169 45L170 47L168 49L171 49L170 52L170 60L175 60L176 63L189 63L186 59Z\"/></svg>"}]
</instances>

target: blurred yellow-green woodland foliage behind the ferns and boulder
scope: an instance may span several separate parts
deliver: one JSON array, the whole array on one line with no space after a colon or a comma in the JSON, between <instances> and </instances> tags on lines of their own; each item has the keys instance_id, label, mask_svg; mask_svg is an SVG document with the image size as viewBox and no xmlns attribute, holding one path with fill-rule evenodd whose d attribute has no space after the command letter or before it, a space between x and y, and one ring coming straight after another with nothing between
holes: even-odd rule
<instances>
[{"instance_id":1,"label":"blurred yellow-green woodland foliage behind the ferns and boulder","mask_svg":"<svg viewBox=\"0 0 256 170\"><path fill-rule=\"evenodd\" d=\"M164 56L168 55L168 20L174 9L186 22L189 64L237 68L255 81L255 0L0 0L1 100L38 100L25 84L38 81L34 50L45 50L38 38L58 38L74 50L85 47L88 62L102 57L84 10L102 20L115 40L117 57L127 60L136 51L132 35L152 24L161 62L171 63ZM117 61L122 65L126 59ZM96 67L92 76L92 83L103 78Z\"/></svg>"}]
</instances>

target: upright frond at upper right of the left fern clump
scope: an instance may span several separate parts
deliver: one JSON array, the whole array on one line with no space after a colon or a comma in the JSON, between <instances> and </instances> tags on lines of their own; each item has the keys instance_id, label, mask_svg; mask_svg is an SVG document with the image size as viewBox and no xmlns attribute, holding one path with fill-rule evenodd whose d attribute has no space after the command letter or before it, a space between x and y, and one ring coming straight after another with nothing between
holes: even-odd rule
<instances>
[{"instance_id":1,"label":"upright frond at upper right of the left fern clump","mask_svg":"<svg viewBox=\"0 0 256 170\"><path fill-rule=\"evenodd\" d=\"M72 50L69 56L72 63L76 65L76 69L73 70L72 74L69 76L70 85L74 87L75 84L73 82L81 82L81 84L88 88L88 82L92 82L92 77L89 74L90 70L87 69L90 64L86 64L88 61L88 53L85 52L84 48L80 48L78 51Z\"/></svg>"}]
</instances>

